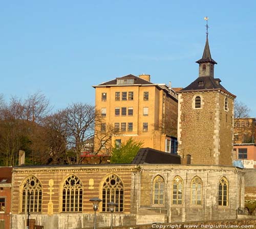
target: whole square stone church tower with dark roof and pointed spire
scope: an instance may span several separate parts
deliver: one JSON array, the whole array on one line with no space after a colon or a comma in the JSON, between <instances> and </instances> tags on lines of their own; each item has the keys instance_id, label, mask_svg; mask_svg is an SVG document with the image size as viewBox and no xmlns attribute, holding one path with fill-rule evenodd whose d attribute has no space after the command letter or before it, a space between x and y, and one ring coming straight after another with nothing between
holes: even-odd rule
<instances>
[{"instance_id":1,"label":"whole square stone church tower with dark roof and pointed spire","mask_svg":"<svg viewBox=\"0 0 256 229\"><path fill-rule=\"evenodd\" d=\"M214 78L208 34L199 77L179 91L178 154L182 164L232 165L233 102L221 80Z\"/></svg>"}]
</instances>

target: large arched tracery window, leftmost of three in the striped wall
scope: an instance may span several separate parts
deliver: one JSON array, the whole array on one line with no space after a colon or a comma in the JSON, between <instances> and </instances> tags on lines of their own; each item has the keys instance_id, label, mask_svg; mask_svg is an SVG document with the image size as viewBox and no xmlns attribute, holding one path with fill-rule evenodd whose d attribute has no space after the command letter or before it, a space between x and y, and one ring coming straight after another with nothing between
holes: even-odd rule
<instances>
[{"instance_id":1,"label":"large arched tracery window, leftmost of three in the striped wall","mask_svg":"<svg viewBox=\"0 0 256 229\"><path fill-rule=\"evenodd\" d=\"M22 212L41 212L42 187L35 176L30 176L23 185Z\"/></svg>"}]
</instances>

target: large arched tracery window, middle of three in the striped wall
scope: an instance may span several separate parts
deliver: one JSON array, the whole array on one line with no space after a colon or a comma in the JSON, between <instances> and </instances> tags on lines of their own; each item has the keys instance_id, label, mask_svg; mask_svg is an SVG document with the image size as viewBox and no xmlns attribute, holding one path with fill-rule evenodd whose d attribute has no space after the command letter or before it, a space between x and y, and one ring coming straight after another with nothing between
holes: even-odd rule
<instances>
[{"instance_id":1,"label":"large arched tracery window, middle of three in the striped wall","mask_svg":"<svg viewBox=\"0 0 256 229\"><path fill-rule=\"evenodd\" d=\"M75 175L70 175L62 188L62 212L82 211L82 183Z\"/></svg>"}]
</instances>

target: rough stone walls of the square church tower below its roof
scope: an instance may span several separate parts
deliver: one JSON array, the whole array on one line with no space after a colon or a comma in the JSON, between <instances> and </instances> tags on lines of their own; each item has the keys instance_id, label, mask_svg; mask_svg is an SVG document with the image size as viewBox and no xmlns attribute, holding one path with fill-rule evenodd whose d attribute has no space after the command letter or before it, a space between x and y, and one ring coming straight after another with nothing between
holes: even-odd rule
<instances>
[{"instance_id":1,"label":"rough stone walls of the square church tower below its roof","mask_svg":"<svg viewBox=\"0 0 256 229\"><path fill-rule=\"evenodd\" d=\"M195 108L196 96L201 108ZM179 94L178 154L182 163L231 165L233 100L218 91L184 92Z\"/></svg>"}]
</instances>

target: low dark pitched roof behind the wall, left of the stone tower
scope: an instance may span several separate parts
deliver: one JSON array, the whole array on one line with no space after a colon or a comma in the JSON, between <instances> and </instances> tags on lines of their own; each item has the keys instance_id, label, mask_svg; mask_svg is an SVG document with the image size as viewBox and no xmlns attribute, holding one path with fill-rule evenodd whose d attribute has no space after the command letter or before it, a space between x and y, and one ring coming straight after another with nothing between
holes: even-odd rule
<instances>
[{"instance_id":1,"label":"low dark pitched roof behind the wall, left of the stone tower","mask_svg":"<svg viewBox=\"0 0 256 229\"><path fill-rule=\"evenodd\" d=\"M132 164L180 164L180 156L153 148L141 148Z\"/></svg>"}]
</instances>

